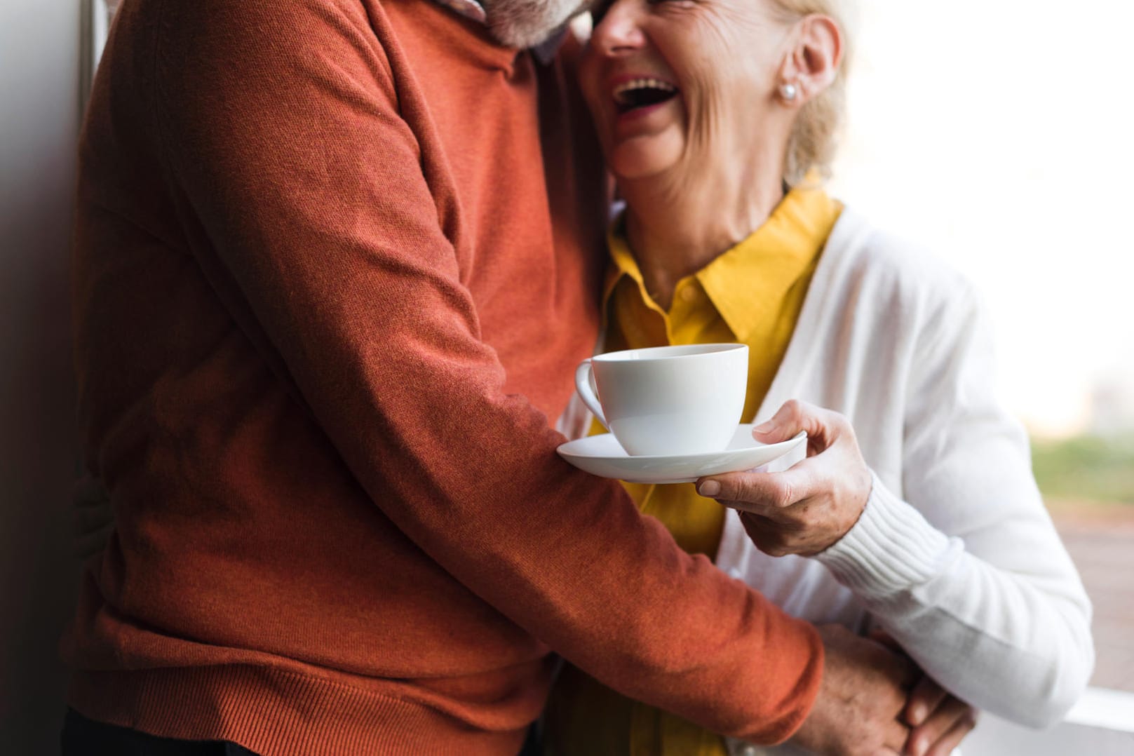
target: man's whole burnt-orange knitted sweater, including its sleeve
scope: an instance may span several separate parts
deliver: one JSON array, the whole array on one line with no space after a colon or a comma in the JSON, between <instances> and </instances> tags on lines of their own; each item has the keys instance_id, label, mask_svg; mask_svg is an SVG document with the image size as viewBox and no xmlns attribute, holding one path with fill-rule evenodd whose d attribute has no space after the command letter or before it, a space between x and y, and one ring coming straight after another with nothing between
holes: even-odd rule
<instances>
[{"instance_id":1,"label":"man's whole burnt-orange knitted sweater, including its sleeve","mask_svg":"<svg viewBox=\"0 0 1134 756\"><path fill-rule=\"evenodd\" d=\"M816 634L555 453L604 216L566 66L423 0L125 3L75 261L118 525L71 706L262 754L507 754L553 649L718 731L798 725Z\"/></svg>"}]
</instances>

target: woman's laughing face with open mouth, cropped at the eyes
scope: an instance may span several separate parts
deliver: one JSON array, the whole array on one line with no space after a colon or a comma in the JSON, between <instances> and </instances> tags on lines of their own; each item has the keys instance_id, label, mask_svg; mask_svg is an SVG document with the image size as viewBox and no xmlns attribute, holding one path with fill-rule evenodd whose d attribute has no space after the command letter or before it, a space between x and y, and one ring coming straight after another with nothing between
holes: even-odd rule
<instances>
[{"instance_id":1,"label":"woman's laughing face with open mouth, cropped at the eyes","mask_svg":"<svg viewBox=\"0 0 1134 756\"><path fill-rule=\"evenodd\" d=\"M619 180L781 160L792 25L771 3L600 0L579 79Z\"/></svg>"}]
</instances>

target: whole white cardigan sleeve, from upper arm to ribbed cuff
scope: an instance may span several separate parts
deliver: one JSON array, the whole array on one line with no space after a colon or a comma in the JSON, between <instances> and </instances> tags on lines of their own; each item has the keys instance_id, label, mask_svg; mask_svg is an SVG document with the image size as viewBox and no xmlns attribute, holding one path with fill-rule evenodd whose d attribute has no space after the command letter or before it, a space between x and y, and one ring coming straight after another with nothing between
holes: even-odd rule
<instances>
[{"instance_id":1,"label":"whole white cardigan sleeve, from upper arm to ribbed cuff","mask_svg":"<svg viewBox=\"0 0 1134 756\"><path fill-rule=\"evenodd\" d=\"M926 318L913 360L903 496L874 476L858 523L821 553L928 674L1043 727L1084 690L1091 605L993 396L989 328L966 294Z\"/></svg>"}]
</instances>

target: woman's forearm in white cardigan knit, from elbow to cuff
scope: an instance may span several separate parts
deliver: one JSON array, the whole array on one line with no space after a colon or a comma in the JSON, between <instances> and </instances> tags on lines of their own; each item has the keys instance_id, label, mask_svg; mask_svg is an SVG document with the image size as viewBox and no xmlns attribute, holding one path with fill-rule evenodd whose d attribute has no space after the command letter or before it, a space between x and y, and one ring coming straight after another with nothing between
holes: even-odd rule
<instances>
[{"instance_id":1,"label":"woman's forearm in white cardigan knit, from elbow to cuff","mask_svg":"<svg viewBox=\"0 0 1134 756\"><path fill-rule=\"evenodd\" d=\"M948 690L1043 727L1090 677L1090 604L1042 511L984 530L948 537L875 478L860 523L819 559Z\"/></svg>"}]
</instances>

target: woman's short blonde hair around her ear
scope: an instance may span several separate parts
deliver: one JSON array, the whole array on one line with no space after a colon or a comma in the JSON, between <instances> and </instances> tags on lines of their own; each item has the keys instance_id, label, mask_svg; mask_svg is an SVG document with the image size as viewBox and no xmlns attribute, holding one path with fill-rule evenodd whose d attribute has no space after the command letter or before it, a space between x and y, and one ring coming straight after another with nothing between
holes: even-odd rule
<instances>
[{"instance_id":1,"label":"woman's short blonde hair around her ear","mask_svg":"<svg viewBox=\"0 0 1134 756\"><path fill-rule=\"evenodd\" d=\"M829 16L843 33L843 61L839 63L835 80L799 110L795 128L788 139L784 180L789 186L796 186L812 170L824 179L831 175L839 133L846 118L846 80L852 49L849 18L846 12L846 0L772 0L772 2L788 20L795 22L810 14L822 14Z\"/></svg>"}]
</instances>

